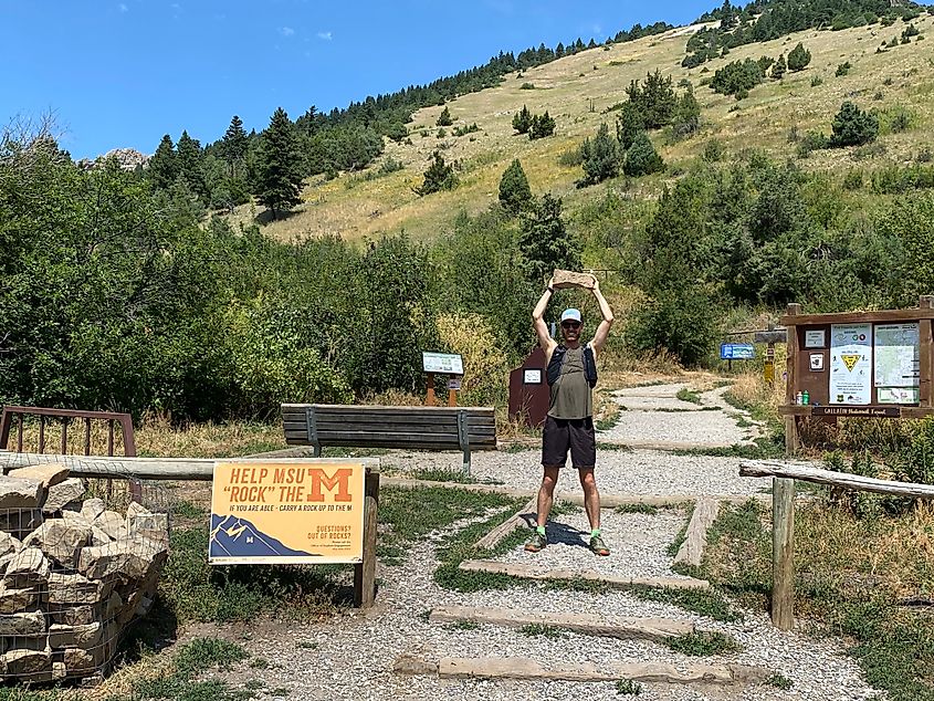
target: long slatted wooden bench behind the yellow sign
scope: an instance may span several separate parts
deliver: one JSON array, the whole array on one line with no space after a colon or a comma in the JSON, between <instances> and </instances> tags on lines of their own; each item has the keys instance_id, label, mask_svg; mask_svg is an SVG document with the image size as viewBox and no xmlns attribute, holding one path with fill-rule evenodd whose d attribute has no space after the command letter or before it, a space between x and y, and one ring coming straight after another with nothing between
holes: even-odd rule
<instances>
[{"instance_id":1,"label":"long slatted wooden bench behind the yellow sign","mask_svg":"<svg viewBox=\"0 0 934 701\"><path fill-rule=\"evenodd\" d=\"M284 404L285 442L349 448L461 450L470 472L472 450L496 450L496 419L490 407L379 407Z\"/></svg>"}]
</instances>

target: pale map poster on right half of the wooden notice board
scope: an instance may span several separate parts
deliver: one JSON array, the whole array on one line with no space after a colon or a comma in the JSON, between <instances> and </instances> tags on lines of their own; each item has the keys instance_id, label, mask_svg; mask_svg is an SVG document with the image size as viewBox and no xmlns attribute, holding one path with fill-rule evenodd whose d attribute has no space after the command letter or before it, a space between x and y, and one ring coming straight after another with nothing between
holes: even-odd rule
<instances>
[{"instance_id":1,"label":"pale map poster on right half of the wooden notice board","mask_svg":"<svg viewBox=\"0 0 934 701\"><path fill-rule=\"evenodd\" d=\"M917 323L877 324L873 346L879 404L917 404Z\"/></svg>"}]
</instances>

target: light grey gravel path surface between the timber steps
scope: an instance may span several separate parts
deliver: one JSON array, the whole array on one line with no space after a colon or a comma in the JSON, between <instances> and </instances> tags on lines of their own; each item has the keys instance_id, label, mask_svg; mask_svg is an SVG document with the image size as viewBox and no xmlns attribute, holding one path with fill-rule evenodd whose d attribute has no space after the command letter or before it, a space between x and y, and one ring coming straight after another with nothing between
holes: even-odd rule
<instances>
[{"instance_id":1,"label":"light grey gravel path surface between the timber steps","mask_svg":"<svg viewBox=\"0 0 934 701\"><path fill-rule=\"evenodd\" d=\"M620 423L601 432L600 441L631 443L633 439L676 439L684 444L732 444L743 440L722 406L722 389L706 393L702 401L721 407L700 411L694 405L686 411L658 411L657 408L684 408L674 397L681 385L660 385L619 393L617 399L634 409L621 412ZM638 390L638 391L637 391ZM636 401L638 399L638 401ZM684 402L681 402L684 404ZM730 410L731 412L733 410ZM705 442L704 442L705 441ZM410 453L393 451L382 458L387 473L407 474L414 470L460 469L459 453ZM495 480L533 493L542 479L537 449L517 452L475 453L473 474ZM737 460L700 456L675 456L655 450L598 451L597 482L604 493L753 494L769 485L768 480L739 478ZM562 492L579 491L577 474L563 471ZM576 510L556 516L549 524L549 545L541 553L526 553L518 546L500 557L504 562L535 563L543 569L586 568L615 575L675 576L671 572L668 545L683 526L688 514L660 510L657 515L601 513L604 535L612 550L610 557L596 557L584 545L589 532L586 514ZM465 520L450 532L468 525ZM627 592L604 594L549 589L528 583L505 590L459 593L440 588L433 579L438 566L435 547L443 533L433 533L426 543L414 544L401 566L378 567L382 583L377 606L366 613L317 625L279 621L251 624L250 639L243 642L253 655L271 665L255 669L241 663L232 671L217 672L233 683L260 679L270 690L285 688L288 699L308 700L389 700L447 701L472 699L506 701L511 699L571 701L618 701L613 683L573 683L515 680L445 680L430 676L405 677L392 672L400 655L427 659L440 657L523 656L562 662L646 662L657 661L684 668L689 665L738 662L764 666L785 676L793 683L788 691L769 686L741 690L699 690L678 686L643 684L640 699L649 701L852 701L884 698L863 682L853 660L841 652L833 639L816 639L775 629L762 614L747 614L744 620L723 624L678 607L642 601ZM521 630L479 626L464 628L428 621L434 606L495 606L520 610L587 613L612 616L660 616L692 620L706 630L733 636L739 652L689 658L667 647L643 641L615 640L563 632L557 638L529 637ZM231 637L229 627L204 627L190 635Z\"/></svg>"}]
</instances>

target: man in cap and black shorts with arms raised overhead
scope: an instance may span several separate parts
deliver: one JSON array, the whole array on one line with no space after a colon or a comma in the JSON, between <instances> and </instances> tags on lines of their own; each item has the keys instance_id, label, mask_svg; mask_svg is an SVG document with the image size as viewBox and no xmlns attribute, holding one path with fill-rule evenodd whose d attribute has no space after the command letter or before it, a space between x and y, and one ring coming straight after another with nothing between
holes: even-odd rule
<instances>
[{"instance_id":1,"label":"man in cap and black shorts with arms raised overhead","mask_svg":"<svg viewBox=\"0 0 934 701\"><path fill-rule=\"evenodd\" d=\"M580 345L584 322L578 310L568 308L562 313L563 343L558 345L548 333L544 320L545 308L554 292L553 278L532 312L538 345L545 352L552 399L542 436L542 467L545 475L538 490L538 527L525 544L525 550L537 553L548 544L545 524L552 511L558 471L567 463L567 453L570 451L571 464L577 469L584 488L584 506L590 521L590 550L597 555L609 555L610 551L600 536L600 494L594 480L597 442L594 436L591 389L597 383L596 358L607 343L613 313L595 278L594 296L600 305L604 320L597 326L594 338L585 346Z\"/></svg>"}]
</instances>

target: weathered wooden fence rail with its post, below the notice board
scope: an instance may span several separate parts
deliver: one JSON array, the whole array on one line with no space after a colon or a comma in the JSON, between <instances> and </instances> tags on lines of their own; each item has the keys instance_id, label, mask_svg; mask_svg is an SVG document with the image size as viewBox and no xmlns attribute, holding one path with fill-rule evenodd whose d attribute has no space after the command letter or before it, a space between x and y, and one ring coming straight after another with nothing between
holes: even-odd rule
<instances>
[{"instance_id":1,"label":"weathered wooden fence rail with its post, below the notice board","mask_svg":"<svg viewBox=\"0 0 934 701\"><path fill-rule=\"evenodd\" d=\"M790 630L795 625L795 480L892 496L934 499L934 484L877 480L800 462L741 462L739 475L773 478L772 622L781 630Z\"/></svg>"}]
</instances>

